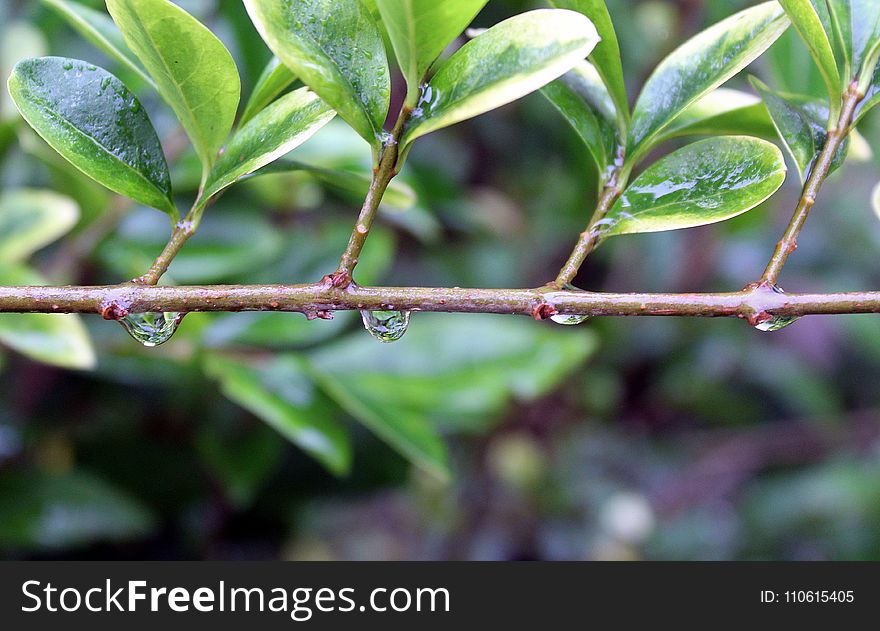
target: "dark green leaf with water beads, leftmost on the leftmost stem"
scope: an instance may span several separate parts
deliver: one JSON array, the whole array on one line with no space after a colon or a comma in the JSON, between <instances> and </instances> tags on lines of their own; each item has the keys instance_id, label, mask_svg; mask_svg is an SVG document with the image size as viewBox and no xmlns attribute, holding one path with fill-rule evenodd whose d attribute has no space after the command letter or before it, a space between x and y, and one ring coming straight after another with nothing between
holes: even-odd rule
<instances>
[{"instance_id":1,"label":"dark green leaf with water beads, leftmost on the leftmost stem","mask_svg":"<svg viewBox=\"0 0 880 631\"><path fill-rule=\"evenodd\" d=\"M43 57L15 67L9 92L30 126L80 171L177 218L156 130L119 79L84 61Z\"/></svg>"}]
</instances>

